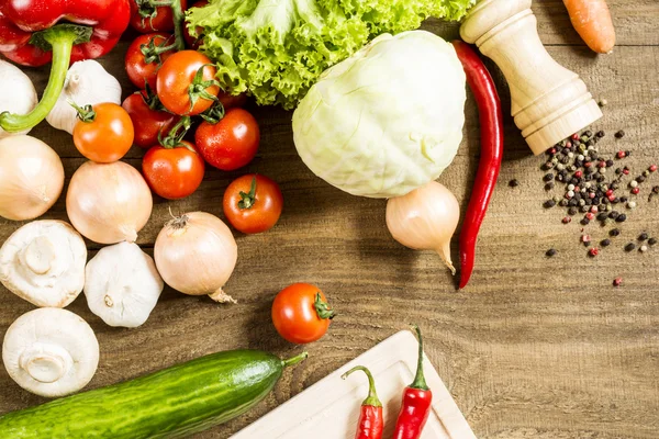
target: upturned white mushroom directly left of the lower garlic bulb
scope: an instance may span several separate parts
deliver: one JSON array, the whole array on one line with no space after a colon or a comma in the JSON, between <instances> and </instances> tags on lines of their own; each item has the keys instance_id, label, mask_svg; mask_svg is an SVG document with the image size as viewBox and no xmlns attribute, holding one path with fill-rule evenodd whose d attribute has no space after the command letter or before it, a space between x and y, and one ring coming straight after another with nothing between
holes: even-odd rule
<instances>
[{"instance_id":1,"label":"upturned white mushroom directly left of the lower garlic bulb","mask_svg":"<svg viewBox=\"0 0 659 439\"><path fill-rule=\"evenodd\" d=\"M0 248L0 282L36 306L65 307L85 286L85 240L63 221L34 221Z\"/></svg>"}]
</instances>

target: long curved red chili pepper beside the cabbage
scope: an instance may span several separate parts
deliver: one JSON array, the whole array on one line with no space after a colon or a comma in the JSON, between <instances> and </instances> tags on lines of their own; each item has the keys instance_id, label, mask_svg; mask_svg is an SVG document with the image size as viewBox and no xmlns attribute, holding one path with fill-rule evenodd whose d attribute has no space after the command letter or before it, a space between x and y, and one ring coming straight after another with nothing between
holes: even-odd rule
<instances>
[{"instance_id":1,"label":"long curved red chili pepper beside the cabbage","mask_svg":"<svg viewBox=\"0 0 659 439\"><path fill-rule=\"evenodd\" d=\"M496 185L503 157L503 112L496 87L483 61L469 45L453 43L478 104L481 125L481 158L460 233L460 289L467 286L476 259L476 241Z\"/></svg>"}]
</instances>

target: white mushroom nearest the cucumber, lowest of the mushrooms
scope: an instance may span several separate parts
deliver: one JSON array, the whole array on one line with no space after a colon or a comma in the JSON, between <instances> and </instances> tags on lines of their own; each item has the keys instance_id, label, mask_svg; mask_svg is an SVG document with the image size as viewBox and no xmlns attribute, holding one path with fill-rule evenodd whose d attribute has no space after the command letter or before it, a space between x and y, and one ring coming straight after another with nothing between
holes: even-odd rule
<instances>
[{"instance_id":1,"label":"white mushroom nearest the cucumber, lowest of the mushrooms","mask_svg":"<svg viewBox=\"0 0 659 439\"><path fill-rule=\"evenodd\" d=\"M2 361L29 392L56 397L85 387L99 364L99 342L87 322L70 311L38 308L7 330Z\"/></svg>"}]
</instances>

